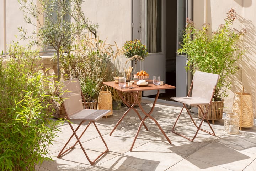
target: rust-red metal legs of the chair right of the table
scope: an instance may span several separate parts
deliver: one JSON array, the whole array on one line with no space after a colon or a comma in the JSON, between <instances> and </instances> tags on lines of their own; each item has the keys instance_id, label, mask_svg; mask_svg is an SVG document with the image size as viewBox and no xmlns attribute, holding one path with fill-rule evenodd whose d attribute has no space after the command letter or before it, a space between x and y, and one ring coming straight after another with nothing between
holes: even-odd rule
<instances>
[{"instance_id":1,"label":"rust-red metal legs of the chair right of the table","mask_svg":"<svg viewBox=\"0 0 256 171\"><path fill-rule=\"evenodd\" d=\"M208 119L206 118L206 113L207 113L208 109L207 109L206 112L204 113L204 112L202 111L201 107L199 107L199 108L201 109L202 113L203 113L203 118L202 118L202 121L201 121L201 123L199 124L199 126L197 126L197 125L196 125L196 122L194 121L194 119L193 119L192 116L191 116L190 111L187 109L187 107L186 107L185 105L186 105L186 104L183 104L183 107L182 107L182 109L181 109L181 112L180 112L180 114L178 115L178 117L177 117L177 119L176 119L176 121L175 121L174 126L172 127L172 132L175 133L175 134L177 134L177 135L182 136L183 138L188 139L188 140L191 141L191 142L194 141L194 139L196 138L197 133L198 133L199 130L201 130L201 131L203 131L203 132L206 132L206 133L208 133L208 134L210 134L210 135L216 136L216 135L215 135L215 132L214 132L214 130L213 130L213 128L212 128L212 126L210 125ZM188 115L190 116L191 120L193 121L193 124L194 124L194 125L196 126L196 128L197 128L197 131L196 131L196 133L195 133L195 135L194 135L194 137L193 137L192 139L186 137L185 135L183 135L183 134L181 134L181 133L178 133L178 132L174 131L174 127L175 127L175 125L176 125L178 119L180 118L180 115L181 115L182 110L183 110L184 108L187 110ZM209 132L209 131L207 131L207 130L201 129L201 126L202 126L202 124L203 124L204 119L207 121L207 123L208 123L210 129L212 130L212 133Z\"/></svg>"}]
</instances>

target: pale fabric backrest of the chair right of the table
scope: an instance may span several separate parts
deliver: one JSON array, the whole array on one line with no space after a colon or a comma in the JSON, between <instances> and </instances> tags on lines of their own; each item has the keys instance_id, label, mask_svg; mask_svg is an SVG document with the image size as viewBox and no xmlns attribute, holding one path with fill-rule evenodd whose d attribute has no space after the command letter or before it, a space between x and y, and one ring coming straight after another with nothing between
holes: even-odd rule
<instances>
[{"instance_id":1,"label":"pale fabric backrest of the chair right of the table","mask_svg":"<svg viewBox=\"0 0 256 171\"><path fill-rule=\"evenodd\" d=\"M196 71L193 76L192 97L200 97L212 101L214 87L219 80L218 74Z\"/></svg>"}]
</instances>

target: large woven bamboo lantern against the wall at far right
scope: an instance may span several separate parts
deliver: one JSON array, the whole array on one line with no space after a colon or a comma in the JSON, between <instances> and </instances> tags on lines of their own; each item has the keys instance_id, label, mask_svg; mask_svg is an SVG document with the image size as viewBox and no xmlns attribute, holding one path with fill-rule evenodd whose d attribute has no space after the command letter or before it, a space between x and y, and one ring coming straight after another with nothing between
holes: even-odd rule
<instances>
[{"instance_id":1,"label":"large woven bamboo lantern against the wall at far right","mask_svg":"<svg viewBox=\"0 0 256 171\"><path fill-rule=\"evenodd\" d=\"M251 95L249 93L244 93L244 88L242 92L237 92L233 99L232 112L237 113L240 129L242 127L249 128L253 126L253 108Z\"/></svg>"}]
</instances>

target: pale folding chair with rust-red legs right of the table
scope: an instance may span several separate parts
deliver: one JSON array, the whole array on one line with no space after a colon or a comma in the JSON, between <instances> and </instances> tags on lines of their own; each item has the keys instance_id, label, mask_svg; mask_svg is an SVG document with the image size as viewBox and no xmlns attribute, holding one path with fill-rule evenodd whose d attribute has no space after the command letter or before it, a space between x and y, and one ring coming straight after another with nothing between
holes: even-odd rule
<instances>
[{"instance_id":1,"label":"pale folding chair with rust-red legs right of the table","mask_svg":"<svg viewBox=\"0 0 256 171\"><path fill-rule=\"evenodd\" d=\"M212 103L212 98L213 98L214 91L215 91L218 80L219 80L219 75L218 74L196 71L195 74L194 74L190 89L188 91L188 96L187 97L172 97L171 98L172 100L175 100L177 102L181 102L183 104L181 112L178 115L174 126L172 127L172 132L173 133L178 134L178 135L188 139L191 142L194 141L194 139L196 138L197 133L198 133L199 130L204 131L206 133L209 133L210 135L216 136L213 129L212 129L212 126L210 125L210 123L209 123L209 121L206 117L206 114L209 110L210 104ZM190 97L191 90L192 90L192 95ZM205 108L206 104L209 104L207 109ZM198 107L201 110L201 112L203 114L203 118L202 118L202 121L201 121L199 126L197 126L196 123L194 122L194 119L192 118L191 113L187 109L186 105ZM184 108L187 110L188 115L190 116L194 125L197 127L197 131L196 131L196 133L195 133L195 135L192 139L186 137L185 135L182 135L181 133L178 133L178 132L174 131L175 125L176 125L178 119L180 118L180 115L181 115L182 110ZM206 122L208 123L210 129L212 130L212 133L209 132L209 131L201 129L201 126L202 126L204 120L206 120Z\"/></svg>"}]
</instances>

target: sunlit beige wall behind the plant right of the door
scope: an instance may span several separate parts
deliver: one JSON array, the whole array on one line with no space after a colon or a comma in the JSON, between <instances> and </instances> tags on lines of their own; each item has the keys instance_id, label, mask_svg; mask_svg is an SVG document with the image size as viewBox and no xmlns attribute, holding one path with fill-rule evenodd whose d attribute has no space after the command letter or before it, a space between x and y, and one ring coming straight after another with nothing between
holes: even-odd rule
<instances>
[{"instance_id":1,"label":"sunlit beige wall behind the plant right of the door","mask_svg":"<svg viewBox=\"0 0 256 171\"><path fill-rule=\"evenodd\" d=\"M245 92L251 94L252 105L255 109L255 56L256 56L256 1L253 0L194 0L194 23L201 27L204 23L204 7L206 2L206 22L211 24L211 30L216 30L224 22L226 13L232 7L235 8L238 19L234 22L233 27L236 29L245 28L247 33L242 40L242 46L247 50L242 58L238 61L240 70L230 78L232 87L229 91L229 97L225 99L224 111L232 110L233 97L235 92L241 92L244 86ZM254 114L255 117L255 114Z\"/></svg>"}]
</instances>

